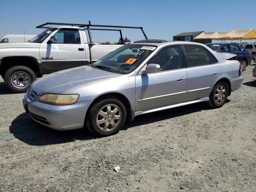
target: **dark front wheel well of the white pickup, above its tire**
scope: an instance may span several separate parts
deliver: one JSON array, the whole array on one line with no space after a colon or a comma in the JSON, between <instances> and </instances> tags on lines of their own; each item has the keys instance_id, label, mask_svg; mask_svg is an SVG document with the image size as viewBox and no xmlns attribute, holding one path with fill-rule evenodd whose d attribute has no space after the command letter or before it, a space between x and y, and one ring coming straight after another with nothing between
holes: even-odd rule
<instances>
[{"instance_id":1,"label":"dark front wheel well of the white pickup, above its tire","mask_svg":"<svg viewBox=\"0 0 256 192\"><path fill-rule=\"evenodd\" d=\"M26 66L33 70L35 74L40 73L40 66L36 58L33 56L6 56L1 59L0 73L1 75L14 67L14 66Z\"/></svg>"}]
</instances>

